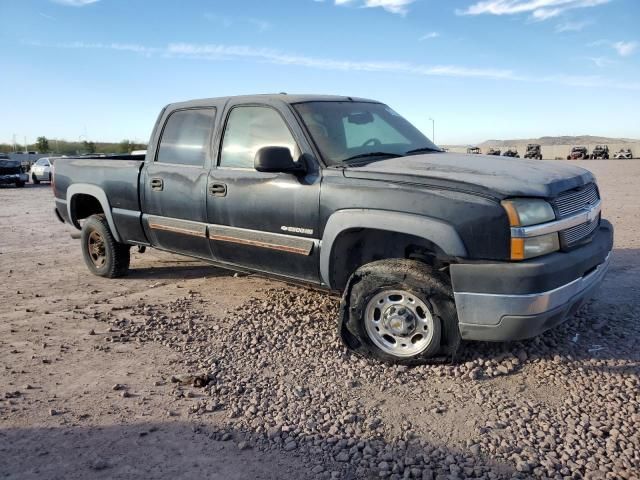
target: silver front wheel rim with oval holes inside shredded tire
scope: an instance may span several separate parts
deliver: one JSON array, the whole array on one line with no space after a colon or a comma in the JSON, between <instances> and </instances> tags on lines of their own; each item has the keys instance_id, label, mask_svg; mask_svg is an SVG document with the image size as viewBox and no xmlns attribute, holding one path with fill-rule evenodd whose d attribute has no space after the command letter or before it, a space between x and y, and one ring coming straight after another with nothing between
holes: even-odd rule
<instances>
[{"instance_id":1,"label":"silver front wheel rim with oval holes inside shredded tire","mask_svg":"<svg viewBox=\"0 0 640 480\"><path fill-rule=\"evenodd\" d=\"M364 325L371 341L396 357L417 355L433 341L431 311L425 302L404 290L374 295L365 308Z\"/></svg>"}]
</instances>

